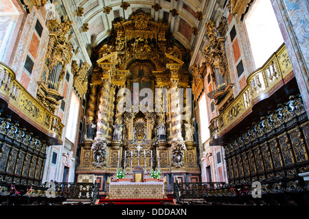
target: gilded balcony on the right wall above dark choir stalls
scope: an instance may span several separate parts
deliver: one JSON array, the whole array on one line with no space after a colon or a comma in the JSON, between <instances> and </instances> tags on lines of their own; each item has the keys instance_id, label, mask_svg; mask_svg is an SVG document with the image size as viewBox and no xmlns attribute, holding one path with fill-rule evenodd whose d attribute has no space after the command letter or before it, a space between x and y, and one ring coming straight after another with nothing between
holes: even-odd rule
<instances>
[{"instance_id":1,"label":"gilded balcony on the right wall above dark choir stalls","mask_svg":"<svg viewBox=\"0 0 309 219\"><path fill-rule=\"evenodd\" d=\"M294 77L292 64L285 44L282 44L261 68L249 75L247 86L236 99L219 116L210 121L211 138L222 137L252 112L255 103L271 96L292 77Z\"/></svg>"}]
</instances>

